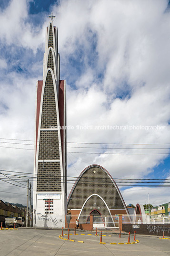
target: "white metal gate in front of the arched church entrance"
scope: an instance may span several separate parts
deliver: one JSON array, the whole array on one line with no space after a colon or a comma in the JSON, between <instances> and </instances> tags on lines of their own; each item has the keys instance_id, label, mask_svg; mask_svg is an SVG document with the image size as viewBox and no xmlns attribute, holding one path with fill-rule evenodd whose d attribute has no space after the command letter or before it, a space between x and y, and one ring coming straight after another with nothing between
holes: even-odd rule
<instances>
[{"instance_id":1,"label":"white metal gate in front of the arched church entrance","mask_svg":"<svg viewBox=\"0 0 170 256\"><path fill-rule=\"evenodd\" d=\"M93 216L93 229L118 229L119 216Z\"/></svg>"}]
</instances>

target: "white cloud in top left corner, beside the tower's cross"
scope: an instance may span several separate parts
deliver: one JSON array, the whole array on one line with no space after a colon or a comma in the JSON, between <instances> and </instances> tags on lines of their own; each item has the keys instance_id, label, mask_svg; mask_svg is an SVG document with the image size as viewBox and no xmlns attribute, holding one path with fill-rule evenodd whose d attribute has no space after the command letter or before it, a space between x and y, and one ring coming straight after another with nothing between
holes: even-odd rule
<instances>
[{"instance_id":1,"label":"white cloud in top left corner, beside the tower's cross","mask_svg":"<svg viewBox=\"0 0 170 256\"><path fill-rule=\"evenodd\" d=\"M28 21L27 0L11 0L0 12L0 39L7 45L30 48L36 53L45 41L45 30L33 27Z\"/></svg>"}]
</instances>

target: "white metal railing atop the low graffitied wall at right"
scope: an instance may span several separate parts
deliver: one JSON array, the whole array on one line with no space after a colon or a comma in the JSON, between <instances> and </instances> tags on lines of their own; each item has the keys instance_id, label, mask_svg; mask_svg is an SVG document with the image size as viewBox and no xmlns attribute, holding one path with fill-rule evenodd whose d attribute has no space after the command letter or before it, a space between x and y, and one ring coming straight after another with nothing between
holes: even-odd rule
<instances>
[{"instance_id":1,"label":"white metal railing atop the low graffitied wall at right","mask_svg":"<svg viewBox=\"0 0 170 256\"><path fill-rule=\"evenodd\" d=\"M170 224L170 215L122 215L122 224Z\"/></svg>"}]
</instances>

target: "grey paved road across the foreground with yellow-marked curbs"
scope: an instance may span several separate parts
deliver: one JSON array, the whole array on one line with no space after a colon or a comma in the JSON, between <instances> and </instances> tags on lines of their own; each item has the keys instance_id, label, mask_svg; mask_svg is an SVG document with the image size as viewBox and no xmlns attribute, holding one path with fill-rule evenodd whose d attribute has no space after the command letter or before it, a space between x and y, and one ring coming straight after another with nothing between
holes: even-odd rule
<instances>
[{"instance_id":1,"label":"grey paved road across the foreground with yellow-marked curbs","mask_svg":"<svg viewBox=\"0 0 170 256\"><path fill-rule=\"evenodd\" d=\"M74 234L74 231L70 233ZM67 231L63 238L67 238ZM128 242L127 235L106 234L95 236L94 232L77 232L70 235L71 240L61 239L60 230L40 230L20 228L18 230L0 230L0 256L167 256L170 255L170 240L159 237L137 235L137 244L118 245ZM85 235L80 235L85 234ZM91 234L91 235L88 235ZM104 234L104 233L103 233ZM111 236L109 236L111 235ZM83 241L80 243L78 241ZM130 242L133 237L130 236ZM117 243L117 245L110 245Z\"/></svg>"}]
</instances>

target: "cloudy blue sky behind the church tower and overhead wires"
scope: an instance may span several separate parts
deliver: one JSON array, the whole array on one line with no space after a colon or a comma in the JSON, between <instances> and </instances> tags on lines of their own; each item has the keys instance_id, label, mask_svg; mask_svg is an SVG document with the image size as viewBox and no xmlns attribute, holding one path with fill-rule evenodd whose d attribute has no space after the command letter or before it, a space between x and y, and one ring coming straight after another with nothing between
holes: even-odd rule
<instances>
[{"instance_id":1,"label":"cloudy blue sky behind the church tower and overhead wires","mask_svg":"<svg viewBox=\"0 0 170 256\"><path fill-rule=\"evenodd\" d=\"M165 145L170 143L167 0L0 1L0 169L33 172L33 146L2 142L34 140L36 82L42 80L51 11L58 27L60 79L67 81L67 124L74 128L68 130L67 140L102 148L70 148L75 145L68 143L69 176L99 164L113 179L170 178L170 144ZM87 128L90 125L92 129ZM127 129L103 128L106 125ZM154 126L164 128L152 130ZM80 145L87 146L76 146ZM170 201L168 187L119 188L127 204L144 204L148 193L153 205ZM7 184L2 191L8 189ZM15 186L10 190L25 193ZM26 202L24 196L1 196Z\"/></svg>"}]
</instances>

